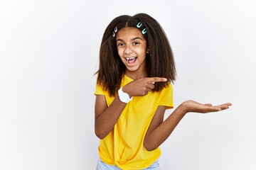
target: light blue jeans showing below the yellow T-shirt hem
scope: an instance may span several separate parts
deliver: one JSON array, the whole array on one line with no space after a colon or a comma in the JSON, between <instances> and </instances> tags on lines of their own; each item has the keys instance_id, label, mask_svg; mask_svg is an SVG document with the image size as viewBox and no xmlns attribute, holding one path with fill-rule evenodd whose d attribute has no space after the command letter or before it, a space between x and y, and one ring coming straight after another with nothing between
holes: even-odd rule
<instances>
[{"instance_id":1,"label":"light blue jeans showing below the yellow T-shirt hem","mask_svg":"<svg viewBox=\"0 0 256 170\"><path fill-rule=\"evenodd\" d=\"M102 162L101 159L97 162L97 169L96 170L121 170L117 166L112 166L109 164L105 164ZM151 166L147 167L146 169L142 170L160 170L159 168L159 160L157 159Z\"/></svg>"}]
</instances>

